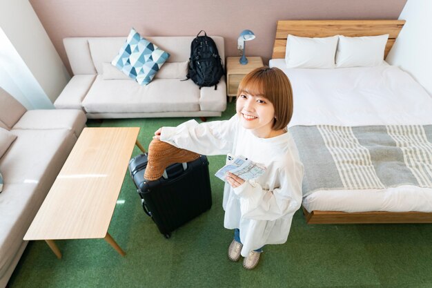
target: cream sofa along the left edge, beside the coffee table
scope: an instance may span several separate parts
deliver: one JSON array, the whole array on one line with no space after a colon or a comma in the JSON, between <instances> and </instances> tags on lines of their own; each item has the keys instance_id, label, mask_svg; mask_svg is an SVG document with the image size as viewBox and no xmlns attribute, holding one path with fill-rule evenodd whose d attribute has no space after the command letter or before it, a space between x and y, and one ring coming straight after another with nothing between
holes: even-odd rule
<instances>
[{"instance_id":1,"label":"cream sofa along the left edge, beside the coffee table","mask_svg":"<svg viewBox=\"0 0 432 288\"><path fill-rule=\"evenodd\" d=\"M0 287L7 285L28 243L23 236L84 126L81 110L27 111L0 88ZM8 146L6 138L15 139Z\"/></svg>"}]
</instances>

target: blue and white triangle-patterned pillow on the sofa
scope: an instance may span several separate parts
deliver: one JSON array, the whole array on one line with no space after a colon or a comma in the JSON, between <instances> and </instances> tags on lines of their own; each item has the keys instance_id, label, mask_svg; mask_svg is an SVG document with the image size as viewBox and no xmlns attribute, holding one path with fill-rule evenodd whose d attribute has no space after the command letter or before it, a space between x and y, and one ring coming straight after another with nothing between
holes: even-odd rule
<instances>
[{"instance_id":1,"label":"blue and white triangle-patterned pillow on the sofa","mask_svg":"<svg viewBox=\"0 0 432 288\"><path fill-rule=\"evenodd\" d=\"M139 84L149 84L170 54L144 39L134 28L111 64Z\"/></svg>"}]
</instances>

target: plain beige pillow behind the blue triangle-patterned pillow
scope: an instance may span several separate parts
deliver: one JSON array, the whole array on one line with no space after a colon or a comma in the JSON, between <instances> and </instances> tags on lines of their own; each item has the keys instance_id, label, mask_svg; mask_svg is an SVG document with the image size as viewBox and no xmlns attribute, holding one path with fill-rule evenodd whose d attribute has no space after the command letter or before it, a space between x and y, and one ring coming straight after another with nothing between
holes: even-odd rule
<instances>
[{"instance_id":1,"label":"plain beige pillow behind the blue triangle-patterned pillow","mask_svg":"<svg viewBox=\"0 0 432 288\"><path fill-rule=\"evenodd\" d=\"M165 64L157 71L155 78L164 79L184 79L188 74L189 61L184 62L165 62ZM130 77L119 68L112 64L105 62L103 63L104 68L104 80L130 80Z\"/></svg>"}]
</instances>

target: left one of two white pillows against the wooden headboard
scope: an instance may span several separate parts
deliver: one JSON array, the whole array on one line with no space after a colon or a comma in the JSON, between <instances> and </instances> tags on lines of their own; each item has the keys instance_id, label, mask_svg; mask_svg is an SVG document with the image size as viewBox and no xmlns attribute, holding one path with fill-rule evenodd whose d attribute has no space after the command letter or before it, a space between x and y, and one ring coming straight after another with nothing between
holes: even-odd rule
<instances>
[{"instance_id":1,"label":"left one of two white pillows against the wooden headboard","mask_svg":"<svg viewBox=\"0 0 432 288\"><path fill-rule=\"evenodd\" d=\"M286 39L286 68L335 68L337 36Z\"/></svg>"}]
</instances>

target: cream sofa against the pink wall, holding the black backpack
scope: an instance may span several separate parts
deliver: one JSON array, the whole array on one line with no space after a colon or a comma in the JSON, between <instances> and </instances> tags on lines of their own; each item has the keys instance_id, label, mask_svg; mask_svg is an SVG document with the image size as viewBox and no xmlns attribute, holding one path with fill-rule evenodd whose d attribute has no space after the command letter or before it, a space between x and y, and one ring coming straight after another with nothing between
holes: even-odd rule
<instances>
[{"instance_id":1,"label":"cream sofa against the pink wall, holding the black backpack","mask_svg":"<svg viewBox=\"0 0 432 288\"><path fill-rule=\"evenodd\" d=\"M145 37L170 53L167 63L188 61L194 37ZM212 36L224 61L224 38ZM141 86L132 79L104 79L126 37L63 39L73 77L55 101L56 108L82 109L88 118L206 117L226 109L226 81L199 89L192 80L155 79ZM164 68L164 66L162 66ZM186 73L182 78L186 77Z\"/></svg>"}]
</instances>

